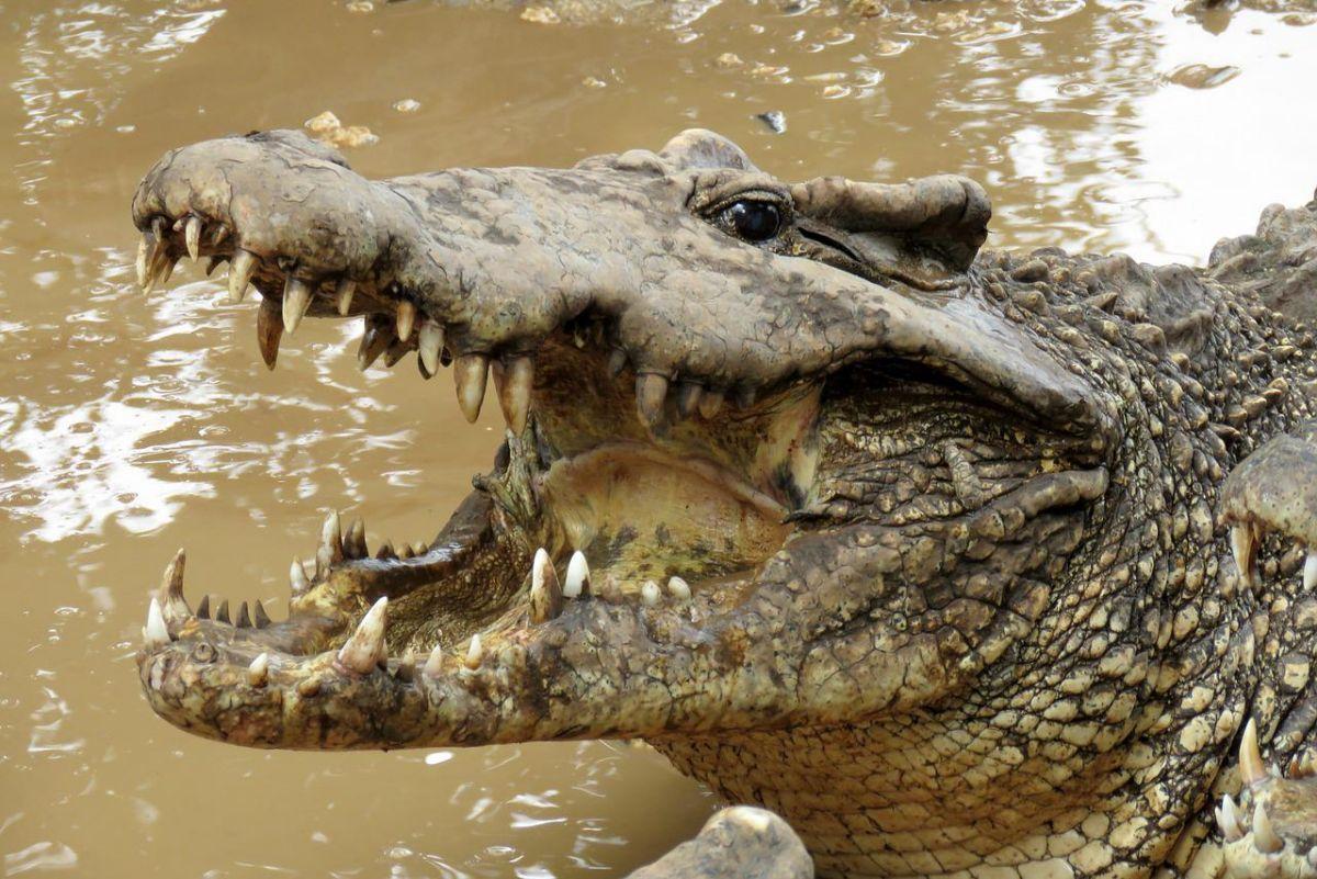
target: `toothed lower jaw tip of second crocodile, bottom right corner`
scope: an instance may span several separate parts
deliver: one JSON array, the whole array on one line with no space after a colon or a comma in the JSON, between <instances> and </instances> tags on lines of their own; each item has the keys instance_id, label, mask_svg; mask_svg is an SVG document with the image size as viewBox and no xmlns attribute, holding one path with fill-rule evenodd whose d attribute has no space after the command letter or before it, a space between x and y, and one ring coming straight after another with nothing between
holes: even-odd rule
<instances>
[{"instance_id":1,"label":"toothed lower jaw tip of second crocodile, bottom right corner","mask_svg":"<svg viewBox=\"0 0 1317 879\"><path fill-rule=\"evenodd\" d=\"M1216 809L1229 875L1317 878L1317 765L1291 761L1287 774L1262 762L1250 720L1239 745L1239 803L1227 793Z\"/></svg>"}]
</instances>

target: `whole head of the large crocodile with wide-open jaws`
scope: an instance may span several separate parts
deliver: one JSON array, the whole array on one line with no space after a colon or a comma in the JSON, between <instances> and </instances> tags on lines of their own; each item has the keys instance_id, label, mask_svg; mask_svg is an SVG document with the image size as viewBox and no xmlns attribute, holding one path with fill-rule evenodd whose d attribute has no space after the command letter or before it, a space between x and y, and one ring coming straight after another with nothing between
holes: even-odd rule
<instances>
[{"instance_id":1,"label":"whole head of the large crocodile with wide-open jaws","mask_svg":"<svg viewBox=\"0 0 1317 879\"><path fill-rule=\"evenodd\" d=\"M151 707L271 747L651 738L936 703L1055 599L1121 449L1117 397L972 261L982 189L788 184L686 132L569 170L383 182L288 132L162 158L148 289L228 261L273 368L304 316L361 363L452 367L507 441L428 546L325 522L286 620L183 596ZM414 379L419 380L419 379Z\"/></svg>"}]
</instances>

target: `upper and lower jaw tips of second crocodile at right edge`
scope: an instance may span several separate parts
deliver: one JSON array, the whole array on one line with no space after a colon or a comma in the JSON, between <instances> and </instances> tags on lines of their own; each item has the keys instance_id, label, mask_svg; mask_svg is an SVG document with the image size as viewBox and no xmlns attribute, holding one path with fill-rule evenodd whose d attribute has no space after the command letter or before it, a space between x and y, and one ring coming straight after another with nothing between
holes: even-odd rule
<instances>
[{"instance_id":1,"label":"upper and lower jaw tips of second crocodile at right edge","mask_svg":"<svg viewBox=\"0 0 1317 879\"><path fill-rule=\"evenodd\" d=\"M1275 437L1249 455L1226 480L1221 518L1245 586L1258 582L1260 540L1277 532L1306 549L1304 592L1317 586L1317 424ZM1239 879L1317 878L1317 765L1296 755L1285 772L1262 758L1258 728L1249 721L1239 745L1238 804L1217 807L1229 875ZM1288 778L1287 778L1288 775Z\"/></svg>"}]
</instances>

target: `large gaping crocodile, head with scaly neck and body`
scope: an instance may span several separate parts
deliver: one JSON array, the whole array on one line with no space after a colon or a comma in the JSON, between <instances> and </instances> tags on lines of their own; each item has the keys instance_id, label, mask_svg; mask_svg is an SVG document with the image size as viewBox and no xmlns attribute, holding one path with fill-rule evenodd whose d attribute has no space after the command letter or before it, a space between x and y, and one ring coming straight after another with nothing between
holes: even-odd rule
<instances>
[{"instance_id":1,"label":"large gaping crocodile, head with scaly neck and body","mask_svg":"<svg viewBox=\"0 0 1317 879\"><path fill-rule=\"evenodd\" d=\"M1317 875L1317 349L1263 300L1317 201L1151 267L706 130L386 180L277 130L132 212L145 292L184 255L259 292L267 367L357 320L507 424L429 543L329 512L283 618L194 609L179 551L137 654L178 728L640 738L745 804L651 879Z\"/></svg>"}]
</instances>

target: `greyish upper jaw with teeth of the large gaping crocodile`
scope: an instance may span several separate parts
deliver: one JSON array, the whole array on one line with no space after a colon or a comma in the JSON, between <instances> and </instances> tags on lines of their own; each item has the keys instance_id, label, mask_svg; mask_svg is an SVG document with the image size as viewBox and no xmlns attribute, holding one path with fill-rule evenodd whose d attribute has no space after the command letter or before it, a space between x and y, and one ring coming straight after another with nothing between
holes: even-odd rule
<instances>
[{"instance_id":1,"label":"greyish upper jaw with teeth of the large gaping crocodile","mask_svg":"<svg viewBox=\"0 0 1317 879\"><path fill-rule=\"evenodd\" d=\"M535 355L565 329L595 333L631 367L651 428L705 396L764 396L877 354L955 370L1077 432L1109 426L1084 383L977 295L915 299L736 242L686 212L689 174L498 168L375 183L340 162L288 132L171 153L133 201L144 286L184 253L228 259L233 297L250 282L266 299L258 337L271 366L304 314L363 316L363 362L416 350L432 375L454 359L471 420L495 364L514 430Z\"/></svg>"}]
</instances>

